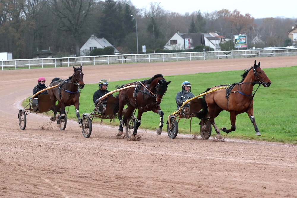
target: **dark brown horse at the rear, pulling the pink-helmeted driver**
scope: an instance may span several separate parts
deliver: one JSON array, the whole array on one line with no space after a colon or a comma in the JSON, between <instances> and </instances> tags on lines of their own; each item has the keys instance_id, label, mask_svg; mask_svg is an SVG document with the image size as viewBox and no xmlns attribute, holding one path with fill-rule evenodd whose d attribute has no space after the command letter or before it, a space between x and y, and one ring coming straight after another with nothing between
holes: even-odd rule
<instances>
[{"instance_id":1,"label":"dark brown horse at the rear, pulling the pink-helmeted driver","mask_svg":"<svg viewBox=\"0 0 297 198\"><path fill-rule=\"evenodd\" d=\"M65 107L74 105L75 106L75 114L78 118L78 123L80 124L80 115L79 115L79 96L80 89L83 89L85 84L83 83L83 72L82 66L74 67L73 66L73 75L70 76L67 80L62 80L60 78L53 78L50 87L59 85L58 87L52 88L48 90L48 94L50 96L50 100L52 102L54 117L50 118L50 120L57 120L57 125L60 127L60 120L65 118ZM56 105L56 102L58 104ZM60 109L61 108L61 109ZM57 111L61 113L60 116L57 115Z\"/></svg>"}]
</instances>

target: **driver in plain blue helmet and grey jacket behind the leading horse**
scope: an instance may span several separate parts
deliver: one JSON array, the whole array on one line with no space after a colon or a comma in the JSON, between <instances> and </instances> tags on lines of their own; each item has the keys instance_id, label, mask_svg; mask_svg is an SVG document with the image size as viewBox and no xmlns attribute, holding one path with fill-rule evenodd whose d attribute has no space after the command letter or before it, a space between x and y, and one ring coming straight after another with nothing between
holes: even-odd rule
<instances>
[{"instance_id":1,"label":"driver in plain blue helmet and grey jacket behind the leading horse","mask_svg":"<svg viewBox=\"0 0 297 198\"><path fill-rule=\"evenodd\" d=\"M194 94L191 93L191 83L189 83L188 81L184 81L181 84L181 91L177 92L176 96L175 96L175 100L176 100L176 104L177 104L177 109L179 109L181 107L181 105L186 102L186 100L194 97ZM183 110L185 107L190 107L189 104L184 105ZM184 111L183 111L184 114Z\"/></svg>"}]
</instances>

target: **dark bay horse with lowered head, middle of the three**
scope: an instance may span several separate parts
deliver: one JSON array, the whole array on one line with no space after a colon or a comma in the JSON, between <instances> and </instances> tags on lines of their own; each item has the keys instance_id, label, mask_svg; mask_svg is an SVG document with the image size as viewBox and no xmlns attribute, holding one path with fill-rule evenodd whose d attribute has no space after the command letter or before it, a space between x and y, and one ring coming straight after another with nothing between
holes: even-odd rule
<instances>
[{"instance_id":1,"label":"dark bay horse with lowered head, middle of the three","mask_svg":"<svg viewBox=\"0 0 297 198\"><path fill-rule=\"evenodd\" d=\"M162 74L154 75L149 80L144 80L142 82L129 83L126 85L122 85L120 88L136 85L136 87L130 87L127 89L123 89L119 91L119 121L120 126L118 129L118 134L123 134L123 125L127 121L128 115L131 115L133 111L137 108L137 120L134 125L133 135L137 134L138 127L141 124L141 116L144 112L152 111L154 113L158 113L160 115L160 123L159 128L157 129L157 134L161 135L162 127L163 127L163 116L164 113L161 110L160 103L162 101L162 97L167 91L168 84L171 81L166 81L163 78ZM119 87L118 87L119 88ZM127 104L127 112L123 116L124 106ZM127 115L127 116L126 116Z\"/></svg>"}]
</instances>

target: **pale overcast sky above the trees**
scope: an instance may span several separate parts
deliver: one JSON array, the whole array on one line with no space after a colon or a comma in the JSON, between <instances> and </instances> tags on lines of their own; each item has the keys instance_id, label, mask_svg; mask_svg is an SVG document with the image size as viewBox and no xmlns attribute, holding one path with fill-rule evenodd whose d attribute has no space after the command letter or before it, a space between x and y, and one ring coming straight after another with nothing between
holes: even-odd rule
<instances>
[{"instance_id":1,"label":"pale overcast sky above the trees","mask_svg":"<svg viewBox=\"0 0 297 198\"><path fill-rule=\"evenodd\" d=\"M215 10L228 9L233 11L237 9L241 14L249 13L254 18L266 17L297 17L297 0L279 0L279 1L264 1L264 0L130 0L132 4L141 9L149 8L150 2L160 2L160 6L172 12L185 14L192 13L200 9L201 13L213 12Z\"/></svg>"}]
</instances>

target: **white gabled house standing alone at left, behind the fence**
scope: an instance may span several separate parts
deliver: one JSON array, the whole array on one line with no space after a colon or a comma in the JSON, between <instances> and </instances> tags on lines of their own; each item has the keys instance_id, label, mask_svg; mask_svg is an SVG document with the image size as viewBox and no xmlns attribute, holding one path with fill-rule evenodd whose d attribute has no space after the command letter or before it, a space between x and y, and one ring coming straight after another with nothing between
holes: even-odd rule
<instances>
[{"instance_id":1,"label":"white gabled house standing alone at left, behind the fence","mask_svg":"<svg viewBox=\"0 0 297 198\"><path fill-rule=\"evenodd\" d=\"M87 40L87 42L80 48L80 56L89 56L90 52L96 48L104 48L113 45L110 44L105 38L97 38L94 34ZM114 48L114 53L119 53L118 50Z\"/></svg>"}]
</instances>

